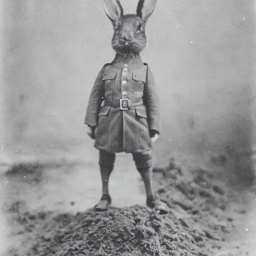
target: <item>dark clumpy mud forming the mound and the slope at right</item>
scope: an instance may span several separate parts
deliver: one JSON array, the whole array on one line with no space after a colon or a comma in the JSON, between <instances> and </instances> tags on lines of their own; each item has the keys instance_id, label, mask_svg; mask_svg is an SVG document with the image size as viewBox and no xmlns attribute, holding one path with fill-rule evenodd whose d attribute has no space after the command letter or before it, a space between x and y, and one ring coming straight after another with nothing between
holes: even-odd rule
<instances>
[{"instance_id":1,"label":"dark clumpy mud forming the mound and the slope at right","mask_svg":"<svg viewBox=\"0 0 256 256\"><path fill-rule=\"evenodd\" d=\"M6 173L11 179L15 172ZM12 240L8 256L214 255L226 247L234 220L246 213L246 196L227 186L220 173L187 171L171 160L165 168L154 168L154 182L170 208L166 215L141 205L102 213L38 212L28 210L25 200L14 201L6 209Z\"/></svg>"}]
</instances>

